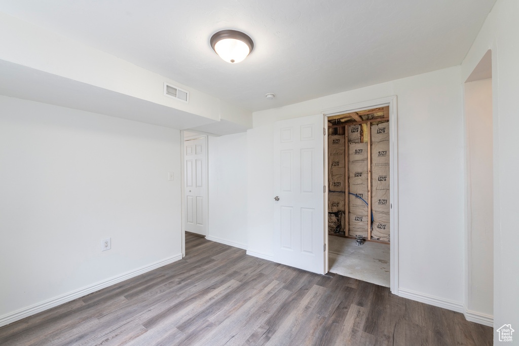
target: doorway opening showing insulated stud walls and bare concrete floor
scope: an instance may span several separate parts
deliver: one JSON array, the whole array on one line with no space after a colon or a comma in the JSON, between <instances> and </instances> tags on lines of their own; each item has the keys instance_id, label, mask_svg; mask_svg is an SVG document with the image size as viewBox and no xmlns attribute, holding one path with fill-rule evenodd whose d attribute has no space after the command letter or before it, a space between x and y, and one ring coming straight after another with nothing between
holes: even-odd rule
<instances>
[{"instance_id":1,"label":"doorway opening showing insulated stud walls and bare concrete floor","mask_svg":"<svg viewBox=\"0 0 519 346\"><path fill-rule=\"evenodd\" d=\"M326 114L328 269L386 287L395 233L392 107Z\"/></svg>"}]
</instances>

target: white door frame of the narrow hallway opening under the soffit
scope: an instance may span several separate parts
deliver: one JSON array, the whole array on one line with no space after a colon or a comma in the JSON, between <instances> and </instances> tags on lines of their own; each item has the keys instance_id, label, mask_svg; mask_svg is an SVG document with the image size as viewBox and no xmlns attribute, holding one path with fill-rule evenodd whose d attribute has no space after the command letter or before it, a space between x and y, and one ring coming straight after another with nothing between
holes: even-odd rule
<instances>
[{"instance_id":1,"label":"white door frame of the narrow hallway opening under the soffit","mask_svg":"<svg viewBox=\"0 0 519 346\"><path fill-rule=\"evenodd\" d=\"M195 132L195 131L188 131L188 132ZM181 195L181 203L180 203L180 212L181 212L181 243L182 243L182 258L184 258L186 256L186 217L185 217L185 208L186 208L186 203L185 203L185 198L186 198L186 195L185 195L185 150L184 150L184 142L185 141L189 141L189 140L196 140L196 139L199 139L199 138L204 138L206 139L206 155L205 155L205 160L206 160L206 175L204 177L204 181L203 181L203 184L206 188L206 201L203 203L203 208L205 210L205 215L206 216L206 224L207 224L207 234L206 234L206 237L209 236L209 187L208 187L208 182L209 182L209 167L208 167L208 164L209 164L209 154L208 154L208 151L209 151L209 136L207 134L196 134L196 135L189 135L189 136L185 136L184 135L184 130L181 130L180 131L180 162L181 162L181 179L182 179L182 182L181 182L181 185L180 185L180 195Z\"/></svg>"}]
</instances>

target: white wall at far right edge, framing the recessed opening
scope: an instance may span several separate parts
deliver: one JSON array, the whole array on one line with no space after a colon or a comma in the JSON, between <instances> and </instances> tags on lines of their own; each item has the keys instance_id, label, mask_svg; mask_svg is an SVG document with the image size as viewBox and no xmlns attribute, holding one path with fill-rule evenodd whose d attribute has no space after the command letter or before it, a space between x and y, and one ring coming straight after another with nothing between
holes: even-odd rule
<instances>
[{"instance_id":1,"label":"white wall at far right edge, framing the recessed opening","mask_svg":"<svg viewBox=\"0 0 519 346\"><path fill-rule=\"evenodd\" d=\"M519 326L519 232L517 231L517 147L519 137L519 2L498 0L463 63L466 80L492 50L494 131L494 329ZM515 332L517 333L517 332ZM514 344L519 337L514 334ZM498 343L498 333L494 333Z\"/></svg>"}]
</instances>

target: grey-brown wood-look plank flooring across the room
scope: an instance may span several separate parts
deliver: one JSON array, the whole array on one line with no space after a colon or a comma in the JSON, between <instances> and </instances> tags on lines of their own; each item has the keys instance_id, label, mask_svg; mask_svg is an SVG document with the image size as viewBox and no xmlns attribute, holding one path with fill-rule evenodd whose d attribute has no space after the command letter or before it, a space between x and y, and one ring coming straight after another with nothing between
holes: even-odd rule
<instances>
[{"instance_id":1,"label":"grey-brown wood-look plank flooring across the room","mask_svg":"<svg viewBox=\"0 0 519 346\"><path fill-rule=\"evenodd\" d=\"M1 345L491 345L493 329L382 286L186 233L186 257L0 328Z\"/></svg>"}]
</instances>

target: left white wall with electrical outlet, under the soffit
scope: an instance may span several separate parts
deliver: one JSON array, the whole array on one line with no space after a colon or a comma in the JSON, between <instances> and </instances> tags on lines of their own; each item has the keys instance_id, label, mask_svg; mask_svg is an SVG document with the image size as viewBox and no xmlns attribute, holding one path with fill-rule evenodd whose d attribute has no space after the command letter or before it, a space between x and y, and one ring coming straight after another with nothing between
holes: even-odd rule
<instances>
[{"instance_id":1,"label":"left white wall with electrical outlet, under the soffit","mask_svg":"<svg viewBox=\"0 0 519 346\"><path fill-rule=\"evenodd\" d=\"M0 96L0 322L180 259L168 171L178 130Z\"/></svg>"}]
</instances>

